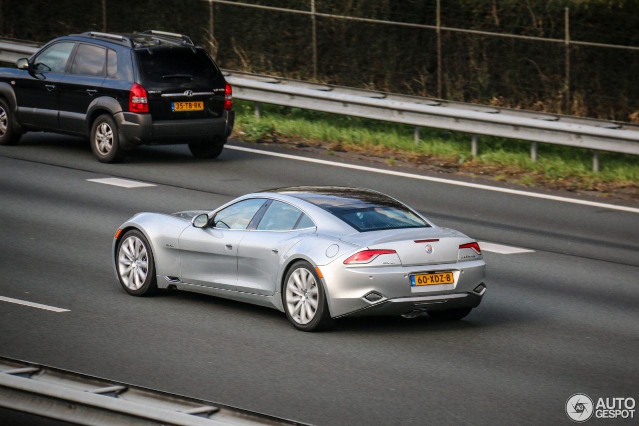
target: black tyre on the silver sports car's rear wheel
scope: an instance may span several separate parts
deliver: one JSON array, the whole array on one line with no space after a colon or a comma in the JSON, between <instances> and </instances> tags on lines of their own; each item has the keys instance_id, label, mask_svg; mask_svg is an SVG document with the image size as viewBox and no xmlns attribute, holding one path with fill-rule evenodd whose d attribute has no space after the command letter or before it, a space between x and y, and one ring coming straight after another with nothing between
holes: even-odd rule
<instances>
[{"instance_id":1,"label":"black tyre on the silver sports car's rear wheel","mask_svg":"<svg viewBox=\"0 0 639 426\"><path fill-rule=\"evenodd\" d=\"M311 288L303 290L304 296L302 295L297 296L295 293L291 293L287 295L287 293L289 293L288 291L289 280L292 280L291 292L293 291L293 289L295 289L295 291L300 290L298 287L296 287L295 278L291 278L293 277L294 274L296 274L298 278L300 277L300 275L305 275L306 277L311 276L314 280L314 283L315 283L314 286L311 284ZM314 289L316 289L316 293L314 292ZM314 298L315 295L317 296L317 298ZM300 309L298 310L298 312L300 312L299 315L295 313L294 305L296 304L292 300L291 300L291 303L288 303L287 301L287 297L290 297L290 296L300 298L298 300L298 303L300 304ZM311 301L308 301L309 299L314 300L316 302L316 310L314 312L314 316L312 317L312 319L308 322L304 322L304 320L301 318L301 315L302 315L301 312L302 312L302 309L305 309L305 306L307 304L309 306L312 306ZM284 304L284 312L286 312L286 317L288 317L288 320L291 322L291 324L293 324L293 326L297 330L302 330L302 331L327 330L328 328L331 328L333 324L335 323L335 320L330 317L330 312L328 311L328 301L327 301L327 297L324 292L324 287L321 283L321 280L319 279L319 276L317 272L315 271L315 268L313 268L312 265L307 261L295 262L293 266L291 266L291 268L289 268L288 272L286 273L286 277L284 277L284 282L282 282L282 303ZM304 313L304 318L305 319L307 318L306 313Z\"/></svg>"}]
</instances>

